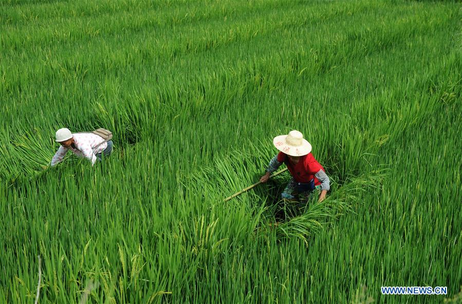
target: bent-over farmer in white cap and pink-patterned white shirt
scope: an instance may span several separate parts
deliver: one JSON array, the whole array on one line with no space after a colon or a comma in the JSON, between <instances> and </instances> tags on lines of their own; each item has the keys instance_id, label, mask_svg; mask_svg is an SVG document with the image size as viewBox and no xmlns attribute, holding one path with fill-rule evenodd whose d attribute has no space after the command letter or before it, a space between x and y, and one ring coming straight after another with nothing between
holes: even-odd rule
<instances>
[{"instance_id":1,"label":"bent-over farmer in white cap and pink-patterned white shirt","mask_svg":"<svg viewBox=\"0 0 462 304\"><path fill-rule=\"evenodd\" d=\"M102 155L109 156L113 150L112 140L104 142L104 138L90 132L72 134L67 128L56 131L56 141L61 147L51 159L50 166L61 163L69 150L77 156L88 158L91 166L97 159L101 160Z\"/></svg>"}]
</instances>

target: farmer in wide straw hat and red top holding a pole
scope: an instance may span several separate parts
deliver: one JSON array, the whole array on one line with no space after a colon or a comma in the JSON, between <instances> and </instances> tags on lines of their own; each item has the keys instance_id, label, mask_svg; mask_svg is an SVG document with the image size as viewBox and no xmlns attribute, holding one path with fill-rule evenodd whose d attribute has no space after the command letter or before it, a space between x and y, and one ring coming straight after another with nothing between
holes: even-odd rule
<instances>
[{"instance_id":1,"label":"farmer in wide straw hat and red top holding a pole","mask_svg":"<svg viewBox=\"0 0 462 304\"><path fill-rule=\"evenodd\" d=\"M288 135L274 137L273 144L281 152L271 159L260 181L266 183L271 173L284 163L292 178L281 194L283 199L295 200L297 195L306 198L316 189L320 191L318 202L323 201L330 189L330 180L324 168L310 153L311 145L303 138L303 134L293 130Z\"/></svg>"}]
</instances>

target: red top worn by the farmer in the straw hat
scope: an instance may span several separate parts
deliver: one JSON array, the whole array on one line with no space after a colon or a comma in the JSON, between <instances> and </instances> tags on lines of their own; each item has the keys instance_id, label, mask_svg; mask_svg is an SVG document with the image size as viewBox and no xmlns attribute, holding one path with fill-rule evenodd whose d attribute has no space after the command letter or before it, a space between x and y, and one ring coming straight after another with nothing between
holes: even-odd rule
<instances>
[{"instance_id":1,"label":"red top worn by the farmer in the straw hat","mask_svg":"<svg viewBox=\"0 0 462 304\"><path fill-rule=\"evenodd\" d=\"M315 185L321 185L321 182L315 177L315 174L318 173L319 170L324 171L324 168L318 163L313 154L308 153L300 156L300 160L297 165L293 165L289 157L287 157L287 154L279 152L278 161L286 164L290 174L293 176L293 179L295 179L298 183L309 183L309 181L314 178Z\"/></svg>"}]
</instances>

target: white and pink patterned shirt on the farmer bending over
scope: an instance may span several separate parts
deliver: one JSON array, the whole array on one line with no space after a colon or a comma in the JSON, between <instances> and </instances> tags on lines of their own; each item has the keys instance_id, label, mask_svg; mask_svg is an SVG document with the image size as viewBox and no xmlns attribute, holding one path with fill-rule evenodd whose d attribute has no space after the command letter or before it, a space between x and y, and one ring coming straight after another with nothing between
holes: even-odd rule
<instances>
[{"instance_id":1,"label":"white and pink patterned shirt on the farmer bending over","mask_svg":"<svg viewBox=\"0 0 462 304\"><path fill-rule=\"evenodd\" d=\"M72 151L72 153L77 156L88 158L91 161L91 166L93 166L96 161L95 154L101 153L107 148L107 143L104 143L94 150L94 147L104 141L104 139L99 135L93 133L75 133L72 134L72 136L74 137L74 145L76 146L76 149L72 147L67 149L60 146L56 154L54 154L51 159L51 166L61 163L68 150Z\"/></svg>"}]
</instances>

